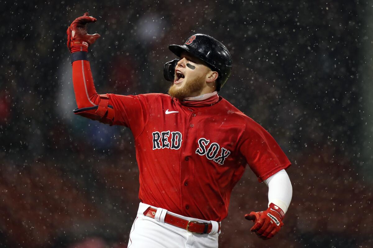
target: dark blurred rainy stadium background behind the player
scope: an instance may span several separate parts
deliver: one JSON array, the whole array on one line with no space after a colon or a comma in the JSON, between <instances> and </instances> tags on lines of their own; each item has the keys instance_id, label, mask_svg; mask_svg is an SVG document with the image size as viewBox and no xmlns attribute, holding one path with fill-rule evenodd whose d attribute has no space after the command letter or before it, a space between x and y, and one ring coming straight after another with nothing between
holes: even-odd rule
<instances>
[{"instance_id":1,"label":"dark blurred rainy stadium background behind the player","mask_svg":"<svg viewBox=\"0 0 373 248\"><path fill-rule=\"evenodd\" d=\"M248 169L220 247L373 247L372 1L0 1L0 247L127 247L138 207L129 129L74 116L66 29L88 11L99 93L166 93L169 44L214 36L233 57L221 96L288 155L293 199L268 241Z\"/></svg>"}]
</instances>

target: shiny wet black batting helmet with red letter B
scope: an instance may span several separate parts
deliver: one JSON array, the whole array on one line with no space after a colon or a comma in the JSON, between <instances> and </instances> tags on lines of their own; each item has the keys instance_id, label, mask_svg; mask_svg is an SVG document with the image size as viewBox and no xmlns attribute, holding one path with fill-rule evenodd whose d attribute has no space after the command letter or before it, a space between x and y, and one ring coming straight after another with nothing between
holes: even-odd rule
<instances>
[{"instance_id":1,"label":"shiny wet black batting helmet with red letter B","mask_svg":"<svg viewBox=\"0 0 373 248\"><path fill-rule=\"evenodd\" d=\"M182 52L189 52L195 57L206 62L213 71L219 73L216 80L216 90L219 91L231 75L232 57L228 49L209 35L197 33L189 37L184 45L169 45L168 48L176 56L180 57ZM167 81L173 81L175 66L179 59L167 62L164 65L163 75Z\"/></svg>"}]
</instances>

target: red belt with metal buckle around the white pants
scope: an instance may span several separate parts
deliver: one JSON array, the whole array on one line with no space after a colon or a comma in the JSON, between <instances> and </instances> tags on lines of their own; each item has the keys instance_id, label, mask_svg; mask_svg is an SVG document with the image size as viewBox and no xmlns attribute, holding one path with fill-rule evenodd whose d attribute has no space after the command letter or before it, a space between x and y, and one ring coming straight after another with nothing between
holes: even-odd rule
<instances>
[{"instance_id":1,"label":"red belt with metal buckle around the white pants","mask_svg":"<svg viewBox=\"0 0 373 248\"><path fill-rule=\"evenodd\" d=\"M154 216L156 215L157 210L153 209L151 207L148 207L144 215L148 216L150 218L154 219ZM212 225L208 223L202 223L195 220L185 220L181 219L179 217L170 215L169 213L166 213L166 216L164 216L164 222L173 226L177 226L182 229L186 229L188 232L195 232L195 233L210 233L212 229ZM219 223L219 229L220 230L220 223Z\"/></svg>"}]
</instances>

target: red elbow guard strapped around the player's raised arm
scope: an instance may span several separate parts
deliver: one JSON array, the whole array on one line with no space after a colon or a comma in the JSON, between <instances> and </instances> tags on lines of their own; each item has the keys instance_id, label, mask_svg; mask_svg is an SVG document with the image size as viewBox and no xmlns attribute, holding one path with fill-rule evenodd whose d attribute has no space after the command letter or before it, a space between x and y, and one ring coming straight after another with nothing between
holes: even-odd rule
<instances>
[{"instance_id":1,"label":"red elbow guard strapped around the player's raised arm","mask_svg":"<svg viewBox=\"0 0 373 248\"><path fill-rule=\"evenodd\" d=\"M113 125L114 109L109 105L109 97L107 94L100 95L98 105L92 107L85 107L73 110L75 115L80 115L92 120L98 120L104 124Z\"/></svg>"}]
</instances>

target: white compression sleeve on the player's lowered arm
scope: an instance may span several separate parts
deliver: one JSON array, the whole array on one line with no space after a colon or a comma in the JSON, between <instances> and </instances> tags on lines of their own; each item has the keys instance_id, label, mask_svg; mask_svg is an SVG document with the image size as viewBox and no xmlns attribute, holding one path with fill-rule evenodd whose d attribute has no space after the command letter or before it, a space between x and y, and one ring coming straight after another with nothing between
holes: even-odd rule
<instances>
[{"instance_id":1,"label":"white compression sleeve on the player's lowered arm","mask_svg":"<svg viewBox=\"0 0 373 248\"><path fill-rule=\"evenodd\" d=\"M280 170L264 180L264 183L268 186L268 206L272 202L286 213L293 194L288 173L285 170Z\"/></svg>"}]
</instances>

